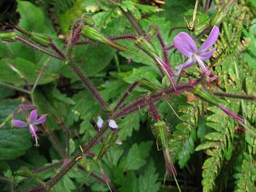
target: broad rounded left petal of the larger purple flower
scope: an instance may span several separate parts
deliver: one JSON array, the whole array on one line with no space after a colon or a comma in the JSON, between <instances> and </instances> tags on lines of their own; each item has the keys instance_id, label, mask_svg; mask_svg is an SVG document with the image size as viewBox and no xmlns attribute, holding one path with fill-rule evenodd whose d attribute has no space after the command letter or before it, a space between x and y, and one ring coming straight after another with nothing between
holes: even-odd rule
<instances>
[{"instance_id":1,"label":"broad rounded left petal of the larger purple flower","mask_svg":"<svg viewBox=\"0 0 256 192\"><path fill-rule=\"evenodd\" d=\"M187 33L181 32L173 38L174 46L186 57L191 57L197 52L196 43Z\"/></svg>"}]
</instances>

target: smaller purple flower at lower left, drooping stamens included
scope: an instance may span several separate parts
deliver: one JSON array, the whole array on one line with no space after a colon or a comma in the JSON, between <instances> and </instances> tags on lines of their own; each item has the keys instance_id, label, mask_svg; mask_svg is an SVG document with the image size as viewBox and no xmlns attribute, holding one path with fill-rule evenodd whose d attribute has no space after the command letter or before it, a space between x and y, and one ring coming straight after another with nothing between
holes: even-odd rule
<instances>
[{"instance_id":1,"label":"smaller purple flower at lower left, drooping stamens included","mask_svg":"<svg viewBox=\"0 0 256 192\"><path fill-rule=\"evenodd\" d=\"M38 137L37 137L37 134L36 134L36 132L38 131L38 127L36 125L44 123L45 120L46 120L46 115L42 115L41 117L38 118L38 112L35 109L35 110L32 110L30 112L28 122L23 122L23 121L20 121L20 120L14 120L12 122L12 125L15 126L15 127L28 126L30 134L36 140L35 146L38 146L38 142L37 142Z\"/></svg>"}]
</instances>

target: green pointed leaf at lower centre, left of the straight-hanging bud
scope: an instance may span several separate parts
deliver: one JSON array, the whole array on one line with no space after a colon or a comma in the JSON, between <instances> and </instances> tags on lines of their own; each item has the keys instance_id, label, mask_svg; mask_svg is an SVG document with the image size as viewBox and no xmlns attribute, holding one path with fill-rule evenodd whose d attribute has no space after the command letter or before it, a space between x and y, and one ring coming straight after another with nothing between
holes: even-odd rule
<instances>
[{"instance_id":1,"label":"green pointed leaf at lower centre, left of the straight-hanging bud","mask_svg":"<svg viewBox=\"0 0 256 192\"><path fill-rule=\"evenodd\" d=\"M141 142L139 145L137 143L133 144L127 156L121 159L119 166L124 171L138 170L146 164L152 145L152 141Z\"/></svg>"}]
</instances>

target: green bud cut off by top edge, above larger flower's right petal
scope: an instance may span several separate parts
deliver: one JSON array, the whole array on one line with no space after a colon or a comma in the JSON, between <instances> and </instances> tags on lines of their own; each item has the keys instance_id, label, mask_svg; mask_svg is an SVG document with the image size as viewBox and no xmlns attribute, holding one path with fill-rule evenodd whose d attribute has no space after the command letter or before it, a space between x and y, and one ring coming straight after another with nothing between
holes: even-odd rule
<instances>
[{"instance_id":1,"label":"green bud cut off by top edge, above larger flower's right petal","mask_svg":"<svg viewBox=\"0 0 256 192\"><path fill-rule=\"evenodd\" d=\"M227 16L228 10L230 9L231 5L236 2L236 0L229 0L227 3L225 3L220 10L215 12L211 19L210 19L210 25L213 26L218 26L220 23L225 19Z\"/></svg>"}]
</instances>

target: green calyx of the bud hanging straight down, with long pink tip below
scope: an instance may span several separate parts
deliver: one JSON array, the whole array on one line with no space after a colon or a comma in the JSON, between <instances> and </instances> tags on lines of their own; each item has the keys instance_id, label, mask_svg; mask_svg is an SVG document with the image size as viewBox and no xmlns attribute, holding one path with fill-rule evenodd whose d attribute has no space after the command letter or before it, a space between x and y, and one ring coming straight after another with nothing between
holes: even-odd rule
<instances>
[{"instance_id":1,"label":"green calyx of the bud hanging straight down, with long pink tip below","mask_svg":"<svg viewBox=\"0 0 256 192\"><path fill-rule=\"evenodd\" d=\"M160 139L163 149L168 148L168 127L163 121L158 121L154 124L155 137Z\"/></svg>"}]
</instances>

